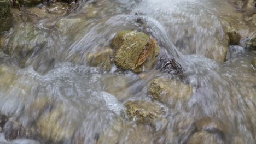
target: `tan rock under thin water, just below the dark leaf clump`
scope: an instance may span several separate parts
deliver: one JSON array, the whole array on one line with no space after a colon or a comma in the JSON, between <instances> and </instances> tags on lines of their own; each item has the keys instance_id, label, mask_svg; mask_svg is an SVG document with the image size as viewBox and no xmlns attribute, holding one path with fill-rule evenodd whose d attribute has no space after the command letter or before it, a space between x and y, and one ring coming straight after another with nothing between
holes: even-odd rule
<instances>
[{"instance_id":1,"label":"tan rock under thin water, just below the dark leaf clump","mask_svg":"<svg viewBox=\"0 0 256 144\"><path fill-rule=\"evenodd\" d=\"M150 83L148 94L162 103L175 104L178 100L188 100L193 91L190 85L178 80L154 79Z\"/></svg>"}]
</instances>

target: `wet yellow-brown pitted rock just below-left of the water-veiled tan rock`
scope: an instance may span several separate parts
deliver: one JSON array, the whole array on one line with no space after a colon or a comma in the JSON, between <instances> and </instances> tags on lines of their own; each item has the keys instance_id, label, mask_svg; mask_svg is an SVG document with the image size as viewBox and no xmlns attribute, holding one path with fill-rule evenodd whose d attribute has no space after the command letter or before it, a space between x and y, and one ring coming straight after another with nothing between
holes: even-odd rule
<instances>
[{"instance_id":1,"label":"wet yellow-brown pitted rock just below-left of the water-veiled tan rock","mask_svg":"<svg viewBox=\"0 0 256 144\"><path fill-rule=\"evenodd\" d=\"M149 101L127 101L125 107L129 117L139 122L152 123L164 114L159 105Z\"/></svg>"}]
</instances>

